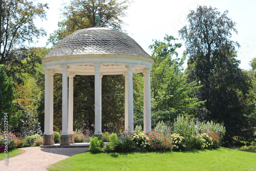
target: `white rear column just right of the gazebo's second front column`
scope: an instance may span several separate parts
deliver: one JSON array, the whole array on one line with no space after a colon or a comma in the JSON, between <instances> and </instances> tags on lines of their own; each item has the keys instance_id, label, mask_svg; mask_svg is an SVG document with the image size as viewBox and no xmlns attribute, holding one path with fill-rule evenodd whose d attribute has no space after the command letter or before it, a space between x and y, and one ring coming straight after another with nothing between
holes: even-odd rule
<instances>
[{"instance_id":1,"label":"white rear column just right of the gazebo's second front column","mask_svg":"<svg viewBox=\"0 0 256 171\"><path fill-rule=\"evenodd\" d=\"M74 74L69 74L69 117L68 117L68 133L74 134L73 132L73 84Z\"/></svg>"}]
</instances>

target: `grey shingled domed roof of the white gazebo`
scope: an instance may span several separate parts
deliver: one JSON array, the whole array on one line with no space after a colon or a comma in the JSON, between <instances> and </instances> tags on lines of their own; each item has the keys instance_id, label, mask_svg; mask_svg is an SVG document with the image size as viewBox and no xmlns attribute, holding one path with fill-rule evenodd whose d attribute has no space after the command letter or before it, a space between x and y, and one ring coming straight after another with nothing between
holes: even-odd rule
<instances>
[{"instance_id":1,"label":"grey shingled domed roof of the white gazebo","mask_svg":"<svg viewBox=\"0 0 256 171\"><path fill-rule=\"evenodd\" d=\"M63 38L43 59L89 54L122 54L152 58L130 36L109 28L94 27L78 30Z\"/></svg>"}]
</instances>

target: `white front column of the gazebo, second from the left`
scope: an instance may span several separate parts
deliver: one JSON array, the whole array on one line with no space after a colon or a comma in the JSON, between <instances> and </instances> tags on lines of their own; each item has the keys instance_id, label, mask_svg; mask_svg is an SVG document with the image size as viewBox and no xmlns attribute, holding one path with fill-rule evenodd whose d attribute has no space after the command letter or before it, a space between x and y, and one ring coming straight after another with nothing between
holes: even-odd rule
<instances>
[{"instance_id":1,"label":"white front column of the gazebo, second from the left","mask_svg":"<svg viewBox=\"0 0 256 171\"><path fill-rule=\"evenodd\" d=\"M68 66L62 68L62 133L68 134Z\"/></svg>"}]
</instances>

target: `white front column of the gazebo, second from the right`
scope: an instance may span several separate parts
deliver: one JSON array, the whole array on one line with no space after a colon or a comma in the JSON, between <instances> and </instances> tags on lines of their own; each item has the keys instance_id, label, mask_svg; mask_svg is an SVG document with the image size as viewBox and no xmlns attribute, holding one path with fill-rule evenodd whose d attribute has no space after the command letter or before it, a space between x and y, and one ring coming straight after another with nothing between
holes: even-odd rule
<instances>
[{"instance_id":1,"label":"white front column of the gazebo, second from the right","mask_svg":"<svg viewBox=\"0 0 256 171\"><path fill-rule=\"evenodd\" d=\"M133 124L133 68L134 66L129 65L127 68L127 124L128 132L134 131Z\"/></svg>"}]
</instances>

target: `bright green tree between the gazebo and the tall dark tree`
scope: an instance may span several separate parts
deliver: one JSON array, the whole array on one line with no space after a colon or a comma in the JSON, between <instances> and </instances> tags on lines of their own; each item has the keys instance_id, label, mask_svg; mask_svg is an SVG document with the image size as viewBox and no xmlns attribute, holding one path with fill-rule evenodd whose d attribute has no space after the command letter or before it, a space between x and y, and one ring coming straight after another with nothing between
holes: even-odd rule
<instances>
[{"instance_id":1,"label":"bright green tree between the gazebo and the tall dark tree","mask_svg":"<svg viewBox=\"0 0 256 171\"><path fill-rule=\"evenodd\" d=\"M182 67L185 56L181 59L173 57L178 55L176 49L181 47L175 40L177 38L166 35L164 41L155 40L150 46L156 59L151 72L153 127L161 120L174 119L178 114L186 114L203 103L193 97L194 91L199 88L196 82L186 82Z\"/></svg>"}]
</instances>

